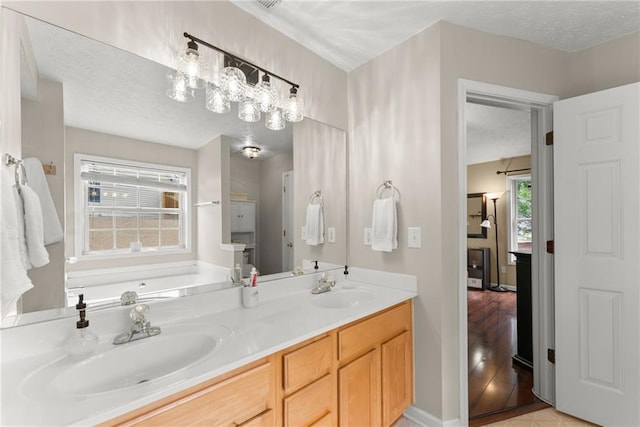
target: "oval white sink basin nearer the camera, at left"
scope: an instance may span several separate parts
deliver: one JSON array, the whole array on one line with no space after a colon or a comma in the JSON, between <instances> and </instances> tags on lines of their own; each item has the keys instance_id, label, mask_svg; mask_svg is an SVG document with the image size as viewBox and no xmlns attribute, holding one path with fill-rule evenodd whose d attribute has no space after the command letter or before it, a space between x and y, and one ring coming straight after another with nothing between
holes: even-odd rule
<instances>
[{"instance_id":1,"label":"oval white sink basin nearer the camera, at left","mask_svg":"<svg viewBox=\"0 0 640 427\"><path fill-rule=\"evenodd\" d=\"M55 375L52 390L89 395L162 378L196 363L218 346L205 334L158 335L122 344L73 363Z\"/></svg>"}]
</instances>

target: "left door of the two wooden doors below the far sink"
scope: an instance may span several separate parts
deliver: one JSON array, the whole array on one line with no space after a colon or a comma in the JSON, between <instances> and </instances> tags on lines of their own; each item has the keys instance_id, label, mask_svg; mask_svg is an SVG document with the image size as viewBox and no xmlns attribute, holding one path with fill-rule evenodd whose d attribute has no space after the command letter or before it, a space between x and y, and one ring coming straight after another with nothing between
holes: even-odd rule
<instances>
[{"instance_id":1,"label":"left door of the two wooden doors below the far sink","mask_svg":"<svg viewBox=\"0 0 640 427\"><path fill-rule=\"evenodd\" d=\"M380 425L380 356L371 350L338 371L341 427Z\"/></svg>"}]
</instances>

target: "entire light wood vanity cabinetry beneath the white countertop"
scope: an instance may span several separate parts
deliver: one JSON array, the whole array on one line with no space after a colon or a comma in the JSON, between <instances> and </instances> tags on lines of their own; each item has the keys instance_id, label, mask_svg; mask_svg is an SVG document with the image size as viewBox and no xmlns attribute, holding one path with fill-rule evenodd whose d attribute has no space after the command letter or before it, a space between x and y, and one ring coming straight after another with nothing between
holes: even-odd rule
<instances>
[{"instance_id":1,"label":"entire light wood vanity cabinetry beneath the white countertop","mask_svg":"<svg viewBox=\"0 0 640 427\"><path fill-rule=\"evenodd\" d=\"M104 425L390 426L412 401L407 301Z\"/></svg>"}]
</instances>

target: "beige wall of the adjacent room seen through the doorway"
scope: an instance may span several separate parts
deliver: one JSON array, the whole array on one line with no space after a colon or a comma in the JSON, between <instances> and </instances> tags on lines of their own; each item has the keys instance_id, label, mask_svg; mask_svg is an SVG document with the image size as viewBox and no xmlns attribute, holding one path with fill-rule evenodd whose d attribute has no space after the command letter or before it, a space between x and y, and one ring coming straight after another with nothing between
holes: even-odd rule
<instances>
[{"instance_id":1,"label":"beige wall of the adjacent room seen through the doorway","mask_svg":"<svg viewBox=\"0 0 640 427\"><path fill-rule=\"evenodd\" d=\"M495 193L500 195L496 202L498 208L498 245L500 247L500 266L507 268L506 274L500 275L500 284L507 286L517 286L516 283L516 266L511 265L507 261L507 177L498 175L497 171L508 169L524 169L531 167L531 156L513 157L502 159L495 162L477 163L467 166L467 193ZM493 201L487 199L487 215L493 215ZM493 227L493 220L491 220ZM468 248L489 248L491 267L491 282L496 282L496 237L495 229L487 230L486 239L467 239Z\"/></svg>"}]
</instances>

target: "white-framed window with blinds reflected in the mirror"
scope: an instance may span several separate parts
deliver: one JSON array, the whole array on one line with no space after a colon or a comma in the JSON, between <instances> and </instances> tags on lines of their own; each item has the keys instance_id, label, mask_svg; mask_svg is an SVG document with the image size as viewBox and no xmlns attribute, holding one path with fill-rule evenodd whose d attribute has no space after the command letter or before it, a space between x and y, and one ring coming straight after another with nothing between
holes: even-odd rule
<instances>
[{"instance_id":1,"label":"white-framed window with blinds reflected in the mirror","mask_svg":"<svg viewBox=\"0 0 640 427\"><path fill-rule=\"evenodd\" d=\"M79 256L188 249L189 169L79 154L75 163Z\"/></svg>"}]
</instances>

